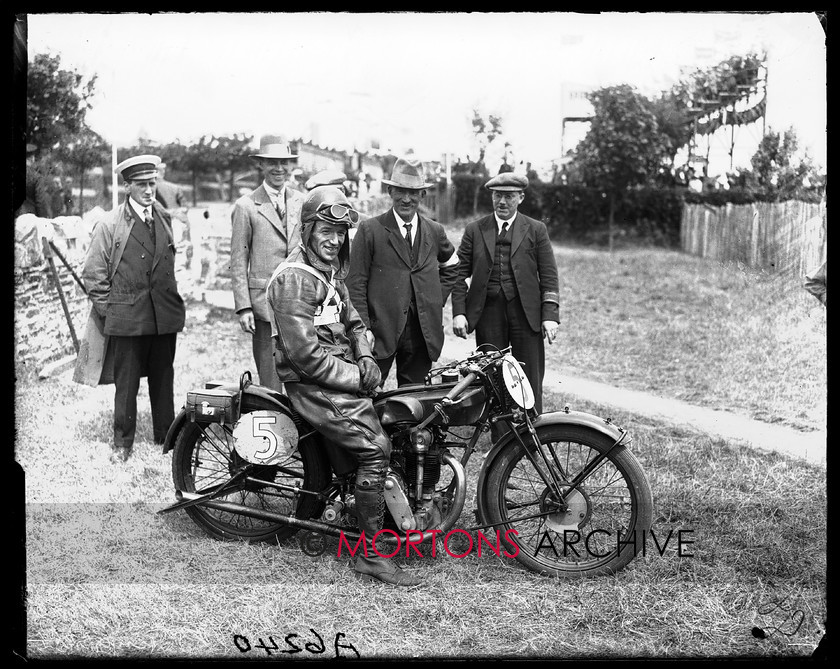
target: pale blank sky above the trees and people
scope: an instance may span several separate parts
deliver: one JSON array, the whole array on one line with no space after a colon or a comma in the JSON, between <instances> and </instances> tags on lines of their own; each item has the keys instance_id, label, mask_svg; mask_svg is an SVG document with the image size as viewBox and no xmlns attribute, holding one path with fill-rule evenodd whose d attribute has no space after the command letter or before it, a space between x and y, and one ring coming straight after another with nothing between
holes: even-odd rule
<instances>
[{"instance_id":1,"label":"pale blank sky above the trees and people","mask_svg":"<svg viewBox=\"0 0 840 669\"><path fill-rule=\"evenodd\" d=\"M826 165L825 33L810 12L30 14L28 51L97 75L88 122L118 146L280 134L475 158L478 109L502 118L513 160L535 167L582 136L561 121L587 112L582 92L630 84L653 97L764 51L768 127L793 127ZM760 126L738 130L736 167L749 166Z\"/></svg>"}]
</instances>

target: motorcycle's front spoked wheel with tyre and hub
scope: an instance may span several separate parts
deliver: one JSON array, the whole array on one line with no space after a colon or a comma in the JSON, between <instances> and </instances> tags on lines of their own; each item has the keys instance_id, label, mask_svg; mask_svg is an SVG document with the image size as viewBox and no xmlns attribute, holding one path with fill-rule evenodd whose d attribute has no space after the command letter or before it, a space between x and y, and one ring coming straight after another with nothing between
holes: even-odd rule
<instances>
[{"instance_id":1,"label":"motorcycle's front spoked wheel with tyre and hub","mask_svg":"<svg viewBox=\"0 0 840 669\"><path fill-rule=\"evenodd\" d=\"M495 529L511 542L508 553L528 569L563 577L618 571L635 557L651 525L653 499L641 465L616 446L571 490L613 440L576 425L546 426L537 435L540 452L531 449L536 465L516 441L491 463L480 496L484 517L501 523Z\"/></svg>"}]
</instances>

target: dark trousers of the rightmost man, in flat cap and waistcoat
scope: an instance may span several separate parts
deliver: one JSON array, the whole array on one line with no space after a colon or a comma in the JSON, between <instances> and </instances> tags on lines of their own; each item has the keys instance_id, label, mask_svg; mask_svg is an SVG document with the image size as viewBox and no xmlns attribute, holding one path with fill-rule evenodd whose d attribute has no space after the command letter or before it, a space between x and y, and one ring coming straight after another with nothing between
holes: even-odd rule
<instances>
[{"instance_id":1,"label":"dark trousers of the rightmost man, in flat cap and waistcoat","mask_svg":"<svg viewBox=\"0 0 840 669\"><path fill-rule=\"evenodd\" d=\"M542 384L545 373L545 344L542 332L528 325L519 296L508 301L501 291L487 296L484 310L475 326L475 343L492 344L500 349L511 347L534 391L534 407L542 413Z\"/></svg>"}]
</instances>

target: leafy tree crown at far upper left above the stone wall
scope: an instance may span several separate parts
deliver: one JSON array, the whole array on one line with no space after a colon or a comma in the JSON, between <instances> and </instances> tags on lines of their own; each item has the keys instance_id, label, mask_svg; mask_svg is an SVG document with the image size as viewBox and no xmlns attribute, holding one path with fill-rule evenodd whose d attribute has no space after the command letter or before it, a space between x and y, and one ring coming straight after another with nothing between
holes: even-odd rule
<instances>
[{"instance_id":1,"label":"leafy tree crown at far upper left above the stone wall","mask_svg":"<svg viewBox=\"0 0 840 669\"><path fill-rule=\"evenodd\" d=\"M26 75L26 138L39 152L51 151L85 129L96 75L88 81L61 68L59 56L36 54Z\"/></svg>"}]
</instances>

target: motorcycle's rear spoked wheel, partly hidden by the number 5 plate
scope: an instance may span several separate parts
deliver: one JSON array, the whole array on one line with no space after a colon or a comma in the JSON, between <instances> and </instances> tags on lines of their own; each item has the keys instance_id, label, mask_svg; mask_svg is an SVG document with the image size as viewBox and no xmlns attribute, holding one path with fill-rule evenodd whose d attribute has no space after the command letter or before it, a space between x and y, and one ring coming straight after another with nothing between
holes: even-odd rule
<instances>
[{"instance_id":1,"label":"motorcycle's rear spoked wheel, partly hidden by the number 5 plate","mask_svg":"<svg viewBox=\"0 0 840 669\"><path fill-rule=\"evenodd\" d=\"M242 413L274 408L259 398L246 396ZM214 501L298 518L320 515L323 504L314 495L271 485L322 490L329 482L329 465L313 444L300 442L294 453L276 465L250 464L236 453L233 444L232 427L229 425L188 424L178 435L172 453L172 477L176 489L204 494L219 486L229 486ZM235 480L229 485L232 478ZM217 539L282 540L297 531L282 523L236 511L202 505L186 507L185 511Z\"/></svg>"}]
</instances>

